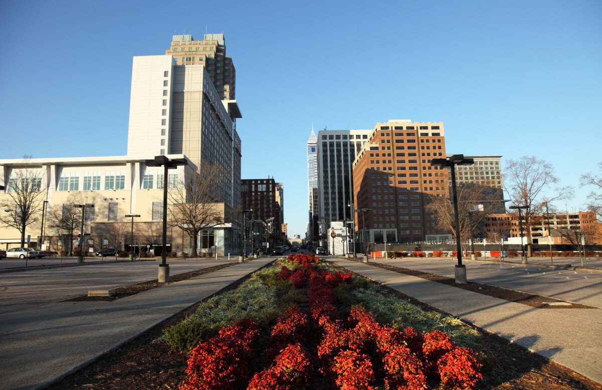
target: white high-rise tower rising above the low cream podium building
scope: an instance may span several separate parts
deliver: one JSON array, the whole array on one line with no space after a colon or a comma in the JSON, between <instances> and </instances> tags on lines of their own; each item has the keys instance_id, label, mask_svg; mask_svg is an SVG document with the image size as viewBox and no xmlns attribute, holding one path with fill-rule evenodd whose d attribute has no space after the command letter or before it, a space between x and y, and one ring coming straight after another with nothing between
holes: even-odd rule
<instances>
[{"instance_id":1,"label":"white high-rise tower rising above the low cream podium building","mask_svg":"<svg viewBox=\"0 0 602 390\"><path fill-rule=\"evenodd\" d=\"M222 166L223 202L240 205L241 141L236 101L221 100L203 65L169 55L134 57L128 156L184 154Z\"/></svg>"}]
</instances>

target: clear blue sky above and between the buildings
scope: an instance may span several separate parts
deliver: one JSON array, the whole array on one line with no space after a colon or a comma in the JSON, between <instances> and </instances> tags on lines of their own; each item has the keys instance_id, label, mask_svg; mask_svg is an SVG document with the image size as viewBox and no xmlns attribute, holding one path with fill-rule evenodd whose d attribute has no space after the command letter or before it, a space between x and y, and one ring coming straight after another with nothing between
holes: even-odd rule
<instances>
[{"instance_id":1,"label":"clear blue sky above and between the buildings","mask_svg":"<svg viewBox=\"0 0 602 390\"><path fill-rule=\"evenodd\" d=\"M448 153L538 156L585 203L602 161L602 2L4 1L0 158L125 155L132 57L223 32L243 178L284 182L305 234L317 130L442 121Z\"/></svg>"}]
</instances>

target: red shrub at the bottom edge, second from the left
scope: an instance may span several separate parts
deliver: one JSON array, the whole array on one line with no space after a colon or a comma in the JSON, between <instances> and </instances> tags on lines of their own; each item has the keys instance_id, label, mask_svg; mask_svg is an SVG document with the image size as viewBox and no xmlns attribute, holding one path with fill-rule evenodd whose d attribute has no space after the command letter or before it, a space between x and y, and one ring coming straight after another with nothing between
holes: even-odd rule
<instances>
[{"instance_id":1,"label":"red shrub at the bottom edge, second from the left","mask_svg":"<svg viewBox=\"0 0 602 390\"><path fill-rule=\"evenodd\" d=\"M311 373L309 354L299 344L285 347L270 367L255 374L247 390L305 389Z\"/></svg>"}]
</instances>

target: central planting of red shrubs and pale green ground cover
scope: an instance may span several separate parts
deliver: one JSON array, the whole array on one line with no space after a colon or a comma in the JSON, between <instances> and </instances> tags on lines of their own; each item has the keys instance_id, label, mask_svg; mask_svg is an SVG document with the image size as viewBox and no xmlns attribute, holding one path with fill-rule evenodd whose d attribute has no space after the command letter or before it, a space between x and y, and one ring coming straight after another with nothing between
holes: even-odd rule
<instances>
[{"instance_id":1,"label":"central planting of red shrubs and pale green ground cover","mask_svg":"<svg viewBox=\"0 0 602 390\"><path fill-rule=\"evenodd\" d=\"M190 351L186 390L472 389L478 336L297 254L202 303L158 341Z\"/></svg>"}]
</instances>

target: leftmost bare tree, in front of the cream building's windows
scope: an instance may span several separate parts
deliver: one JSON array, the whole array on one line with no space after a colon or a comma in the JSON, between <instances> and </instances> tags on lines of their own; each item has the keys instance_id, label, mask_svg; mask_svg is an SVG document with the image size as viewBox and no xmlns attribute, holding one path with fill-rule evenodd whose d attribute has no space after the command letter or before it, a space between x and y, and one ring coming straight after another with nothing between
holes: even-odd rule
<instances>
[{"instance_id":1,"label":"leftmost bare tree, in front of the cream building's windows","mask_svg":"<svg viewBox=\"0 0 602 390\"><path fill-rule=\"evenodd\" d=\"M37 224L42 217L46 191L42 189L43 174L34 167L31 156L23 156L22 165L11 169L7 184L8 197L0 207L0 223L15 228L21 234L21 247L25 246L25 231L28 226Z\"/></svg>"}]
</instances>

